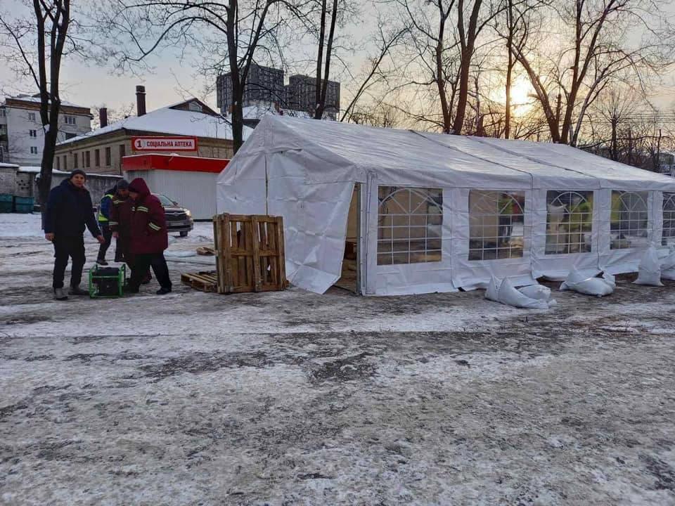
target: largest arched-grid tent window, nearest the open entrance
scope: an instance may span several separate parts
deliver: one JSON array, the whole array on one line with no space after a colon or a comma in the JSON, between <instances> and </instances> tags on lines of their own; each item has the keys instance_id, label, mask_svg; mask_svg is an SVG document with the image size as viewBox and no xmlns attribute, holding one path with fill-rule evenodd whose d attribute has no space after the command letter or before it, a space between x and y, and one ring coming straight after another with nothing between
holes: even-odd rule
<instances>
[{"instance_id":1,"label":"largest arched-grid tent window, nearest the open entrance","mask_svg":"<svg viewBox=\"0 0 675 506\"><path fill-rule=\"evenodd\" d=\"M378 187L378 265L440 261L443 191Z\"/></svg>"}]
</instances>

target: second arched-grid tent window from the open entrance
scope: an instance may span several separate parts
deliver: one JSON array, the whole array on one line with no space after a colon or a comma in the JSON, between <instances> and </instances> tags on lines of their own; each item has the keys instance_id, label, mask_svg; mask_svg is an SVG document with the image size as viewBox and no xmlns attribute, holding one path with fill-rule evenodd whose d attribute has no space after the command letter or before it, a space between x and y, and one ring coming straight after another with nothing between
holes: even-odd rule
<instances>
[{"instance_id":1,"label":"second arched-grid tent window from the open entrance","mask_svg":"<svg viewBox=\"0 0 675 506\"><path fill-rule=\"evenodd\" d=\"M522 257L525 192L471 190L469 260Z\"/></svg>"}]
</instances>

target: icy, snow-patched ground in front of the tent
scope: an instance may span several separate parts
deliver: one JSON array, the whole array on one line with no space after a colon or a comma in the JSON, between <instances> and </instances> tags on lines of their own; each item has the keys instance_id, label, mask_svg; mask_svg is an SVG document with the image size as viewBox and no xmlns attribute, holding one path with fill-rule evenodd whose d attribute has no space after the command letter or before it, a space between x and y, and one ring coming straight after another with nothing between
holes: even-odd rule
<instances>
[{"instance_id":1,"label":"icy, snow-patched ground in front of the tent","mask_svg":"<svg viewBox=\"0 0 675 506\"><path fill-rule=\"evenodd\" d=\"M674 283L219 296L200 224L174 293L56 302L38 223L0 214L1 505L675 504Z\"/></svg>"}]
</instances>

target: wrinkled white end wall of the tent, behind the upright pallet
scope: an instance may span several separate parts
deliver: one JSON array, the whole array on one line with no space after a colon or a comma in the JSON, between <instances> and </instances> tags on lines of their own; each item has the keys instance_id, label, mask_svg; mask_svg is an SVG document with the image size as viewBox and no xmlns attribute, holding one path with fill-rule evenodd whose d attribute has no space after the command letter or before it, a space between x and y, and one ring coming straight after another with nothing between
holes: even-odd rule
<instances>
[{"instance_id":1,"label":"wrinkled white end wall of the tent, behind the upright pallet","mask_svg":"<svg viewBox=\"0 0 675 506\"><path fill-rule=\"evenodd\" d=\"M282 216L286 277L323 293L342 272L354 181L309 181L308 167L319 165L326 174L345 171L344 163L305 150L236 156L221 173L217 192L219 213Z\"/></svg>"}]
</instances>

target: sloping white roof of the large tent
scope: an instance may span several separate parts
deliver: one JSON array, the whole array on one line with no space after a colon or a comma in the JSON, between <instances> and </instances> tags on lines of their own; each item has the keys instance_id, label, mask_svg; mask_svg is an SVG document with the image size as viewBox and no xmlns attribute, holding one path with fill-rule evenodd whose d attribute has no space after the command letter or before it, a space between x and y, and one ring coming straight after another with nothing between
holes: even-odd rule
<instances>
[{"instance_id":1,"label":"sloping white roof of the large tent","mask_svg":"<svg viewBox=\"0 0 675 506\"><path fill-rule=\"evenodd\" d=\"M246 153L288 149L342 159L336 174L312 167L310 181L365 181L366 171L395 183L401 172L420 185L508 189L638 188L675 190L667 176L613 162L568 145L450 136L400 129L380 129L340 122L317 122L266 115L243 148Z\"/></svg>"}]
</instances>

